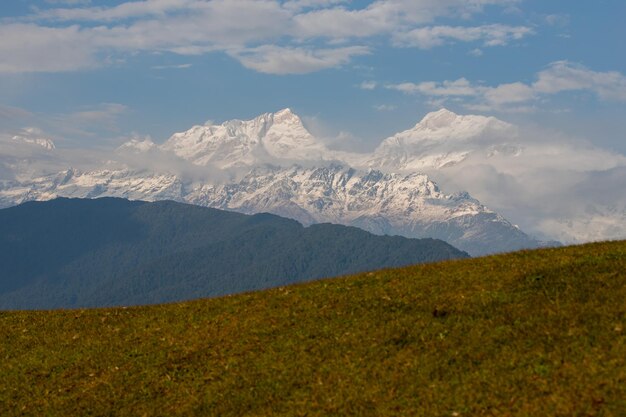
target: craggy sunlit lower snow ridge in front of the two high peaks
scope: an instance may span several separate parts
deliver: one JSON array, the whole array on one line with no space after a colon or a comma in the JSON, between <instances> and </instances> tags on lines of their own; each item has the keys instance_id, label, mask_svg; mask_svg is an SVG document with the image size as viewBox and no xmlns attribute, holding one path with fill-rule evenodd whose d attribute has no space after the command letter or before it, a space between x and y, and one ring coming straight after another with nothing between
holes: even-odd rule
<instances>
[{"instance_id":1,"label":"craggy sunlit lower snow ridge in front of the two high peaks","mask_svg":"<svg viewBox=\"0 0 626 417\"><path fill-rule=\"evenodd\" d=\"M384 174L340 165L259 169L238 183L203 186L188 201L244 212L275 212L287 203L307 213L298 219L304 224L350 224L364 216L402 218L407 212L428 222L489 212L467 195L459 199L442 193L423 174Z\"/></svg>"}]
</instances>

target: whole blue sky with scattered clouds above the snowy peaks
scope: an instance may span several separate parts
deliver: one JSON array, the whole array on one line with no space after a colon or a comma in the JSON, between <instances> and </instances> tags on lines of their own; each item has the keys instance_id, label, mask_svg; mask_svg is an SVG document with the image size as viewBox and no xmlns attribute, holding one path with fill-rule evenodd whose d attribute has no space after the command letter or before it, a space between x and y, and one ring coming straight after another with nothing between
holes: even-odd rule
<instances>
[{"instance_id":1,"label":"whole blue sky with scattered clouds above the snowy peaks","mask_svg":"<svg viewBox=\"0 0 626 417\"><path fill-rule=\"evenodd\" d=\"M626 153L623 0L8 0L0 133L161 142L291 107L372 147L428 111Z\"/></svg>"}]
</instances>

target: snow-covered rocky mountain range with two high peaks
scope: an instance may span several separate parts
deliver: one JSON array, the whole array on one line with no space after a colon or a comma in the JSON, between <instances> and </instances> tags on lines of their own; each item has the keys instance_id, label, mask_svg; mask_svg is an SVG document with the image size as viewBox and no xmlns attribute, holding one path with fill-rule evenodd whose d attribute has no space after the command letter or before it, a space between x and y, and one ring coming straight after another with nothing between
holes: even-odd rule
<instances>
[{"instance_id":1,"label":"snow-covered rocky mountain range with two high peaks","mask_svg":"<svg viewBox=\"0 0 626 417\"><path fill-rule=\"evenodd\" d=\"M484 255L541 243L469 194L446 194L422 172L468 157L471 150L463 146L468 139L513 133L511 125L495 118L441 110L386 139L371 155L338 153L285 109L250 121L194 126L162 145L133 140L116 152L122 161L174 158L192 166L194 175L165 163L69 168L2 181L0 206L56 196L169 199L248 214L269 212L307 225L329 222L377 234L433 237ZM202 172L206 175L198 175Z\"/></svg>"}]
</instances>

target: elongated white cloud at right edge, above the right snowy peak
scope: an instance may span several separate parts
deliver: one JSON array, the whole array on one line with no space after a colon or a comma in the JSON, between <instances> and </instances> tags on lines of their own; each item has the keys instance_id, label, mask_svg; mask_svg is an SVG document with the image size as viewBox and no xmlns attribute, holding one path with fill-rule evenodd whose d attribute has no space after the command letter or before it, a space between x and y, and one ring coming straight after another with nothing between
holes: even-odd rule
<instances>
[{"instance_id":1,"label":"elongated white cloud at right edge, above the right snowy peak","mask_svg":"<svg viewBox=\"0 0 626 417\"><path fill-rule=\"evenodd\" d=\"M537 74L536 81L531 84L513 82L492 87L459 78L390 84L387 88L405 94L462 99L466 108L479 111L528 112L534 109L532 104L542 97L566 91L588 91L602 100L626 102L626 76L615 71L592 71L567 61L550 64Z\"/></svg>"}]
</instances>

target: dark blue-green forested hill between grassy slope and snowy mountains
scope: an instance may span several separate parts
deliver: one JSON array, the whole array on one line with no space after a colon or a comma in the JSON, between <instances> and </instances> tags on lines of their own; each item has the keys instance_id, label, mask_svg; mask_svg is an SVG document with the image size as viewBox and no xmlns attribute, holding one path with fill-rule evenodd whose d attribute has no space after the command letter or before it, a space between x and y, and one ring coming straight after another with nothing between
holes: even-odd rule
<instances>
[{"instance_id":1,"label":"dark blue-green forested hill between grassy slope and snowy mountains","mask_svg":"<svg viewBox=\"0 0 626 417\"><path fill-rule=\"evenodd\" d=\"M0 210L0 308L161 303L466 257L433 239L117 198Z\"/></svg>"}]
</instances>

